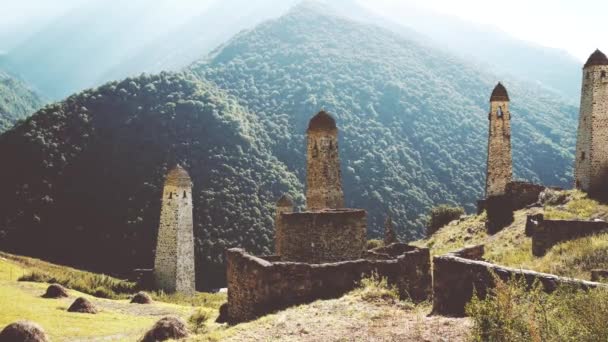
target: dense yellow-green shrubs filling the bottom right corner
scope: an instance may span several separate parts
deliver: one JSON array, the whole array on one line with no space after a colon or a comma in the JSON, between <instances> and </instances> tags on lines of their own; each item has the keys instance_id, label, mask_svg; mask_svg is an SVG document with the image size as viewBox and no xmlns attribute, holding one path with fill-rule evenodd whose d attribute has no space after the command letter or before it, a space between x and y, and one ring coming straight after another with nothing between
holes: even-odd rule
<instances>
[{"instance_id":1,"label":"dense yellow-green shrubs filling the bottom right corner","mask_svg":"<svg viewBox=\"0 0 608 342\"><path fill-rule=\"evenodd\" d=\"M496 280L485 299L467 305L476 341L606 341L608 290L562 287L546 294L536 284Z\"/></svg>"}]
</instances>

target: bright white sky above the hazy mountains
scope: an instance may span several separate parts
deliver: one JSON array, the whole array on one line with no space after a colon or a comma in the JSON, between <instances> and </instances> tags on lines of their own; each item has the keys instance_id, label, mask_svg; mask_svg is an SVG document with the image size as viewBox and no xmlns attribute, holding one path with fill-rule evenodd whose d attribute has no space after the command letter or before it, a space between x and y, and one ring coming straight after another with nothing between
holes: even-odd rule
<instances>
[{"instance_id":1,"label":"bright white sky above the hazy mountains","mask_svg":"<svg viewBox=\"0 0 608 342\"><path fill-rule=\"evenodd\" d=\"M8 42L91 1L99 0L0 0L0 40ZM124 3L125 0L104 1ZM211 2L219 0L148 1L155 5L162 4L159 13L170 18L165 23L171 25L177 24L174 21L186 20L190 15L204 10ZM581 61L586 60L596 48L608 53L606 0L356 1L395 19L405 14L410 6L456 16L468 22L493 26L518 39L566 50Z\"/></svg>"}]
</instances>

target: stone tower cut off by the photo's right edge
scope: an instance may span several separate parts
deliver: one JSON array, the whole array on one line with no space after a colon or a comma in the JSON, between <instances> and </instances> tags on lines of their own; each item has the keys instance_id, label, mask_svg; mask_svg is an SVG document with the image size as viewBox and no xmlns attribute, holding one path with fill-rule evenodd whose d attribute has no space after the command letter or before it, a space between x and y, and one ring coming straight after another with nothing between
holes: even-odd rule
<instances>
[{"instance_id":1,"label":"stone tower cut off by the photo's right edge","mask_svg":"<svg viewBox=\"0 0 608 342\"><path fill-rule=\"evenodd\" d=\"M608 196L608 58L595 50L583 67L575 187Z\"/></svg>"}]
</instances>

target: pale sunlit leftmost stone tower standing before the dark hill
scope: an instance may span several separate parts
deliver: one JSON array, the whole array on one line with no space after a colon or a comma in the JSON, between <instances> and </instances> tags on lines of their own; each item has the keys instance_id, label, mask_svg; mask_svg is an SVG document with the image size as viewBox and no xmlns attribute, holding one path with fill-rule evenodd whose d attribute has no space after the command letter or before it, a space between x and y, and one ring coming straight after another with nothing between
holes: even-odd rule
<instances>
[{"instance_id":1,"label":"pale sunlit leftmost stone tower standing before the dark hill","mask_svg":"<svg viewBox=\"0 0 608 342\"><path fill-rule=\"evenodd\" d=\"M167 174L154 260L154 281L165 292L193 293L192 181L177 165Z\"/></svg>"}]
</instances>

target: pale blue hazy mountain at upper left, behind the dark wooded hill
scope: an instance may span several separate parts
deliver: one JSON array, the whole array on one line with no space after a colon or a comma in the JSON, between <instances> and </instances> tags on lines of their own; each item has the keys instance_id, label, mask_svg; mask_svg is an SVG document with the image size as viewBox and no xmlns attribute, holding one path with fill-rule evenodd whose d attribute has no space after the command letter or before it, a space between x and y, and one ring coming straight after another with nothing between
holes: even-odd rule
<instances>
[{"instance_id":1,"label":"pale blue hazy mountain at upper left, behind the dark wooded hill","mask_svg":"<svg viewBox=\"0 0 608 342\"><path fill-rule=\"evenodd\" d=\"M58 100L142 72L183 68L295 2L199 0L184 13L174 0L89 1L6 51L0 66Z\"/></svg>"}]
</instances>

